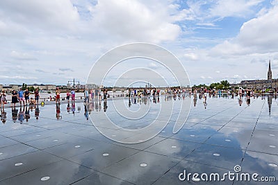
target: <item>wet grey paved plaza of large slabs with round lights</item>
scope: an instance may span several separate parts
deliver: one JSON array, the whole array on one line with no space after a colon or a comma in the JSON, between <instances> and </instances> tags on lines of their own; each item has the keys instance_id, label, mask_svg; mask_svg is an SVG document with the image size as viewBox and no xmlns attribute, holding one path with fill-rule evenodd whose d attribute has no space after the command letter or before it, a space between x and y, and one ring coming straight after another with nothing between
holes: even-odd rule
<instances>
[{"instance_id":1,"label":"wet grey paved plaza of large slabs with round lights","mask_svg":"<svg viewBox=\"0 0 278 185\"><path fill-rule=\"evenodd\" d=\"M156 102L152 98L114 100L124 102L134 114L147 108L145 116L129 121L117 114L112 100L34 109L6 107L6 123L0 125L0 184L259 184L261 177L275 177L276 182L265 184L277 184L277 99L252 97L247 105L243 97L241 106L238 97L211 97L206 103L193 96L185 99L192 106L184 125L175 123L181 100L164 96ZM141 135L132 130L155 121L164 104L169 106L163 115L171 112L171 116L159 116L159 121L167 125L152 139L140 141ZM106 124L106 114L126 133L118 135ZM182 126L176 134L175 124ZM113 141L133 138L140 142ZM181 181L185 170L186 176L218 173L222 178L229 171L236 173L235 166L240 168L237 173L257 173L258 181L228 177L224 182L191 177Z\"/></svg>"}]
</instances>

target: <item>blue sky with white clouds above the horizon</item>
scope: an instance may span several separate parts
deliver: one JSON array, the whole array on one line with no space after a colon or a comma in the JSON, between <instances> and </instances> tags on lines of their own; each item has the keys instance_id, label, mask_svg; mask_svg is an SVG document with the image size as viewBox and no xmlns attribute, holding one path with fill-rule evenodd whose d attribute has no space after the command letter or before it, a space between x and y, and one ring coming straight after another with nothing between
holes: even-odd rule
<instances>
[{"instance_id":1,"label":"blue sky with white clouds above the horizon","mask_svg":"<svg viewBox=\"0 0 278 185\"><path fill-rule=\"evenodd\" d=\"M1 0L0 84L85 83L131 42L172 52L192 85L265 79L268 60L278 78L277 17L277 0Z\"/></svg>"}]
</instances>

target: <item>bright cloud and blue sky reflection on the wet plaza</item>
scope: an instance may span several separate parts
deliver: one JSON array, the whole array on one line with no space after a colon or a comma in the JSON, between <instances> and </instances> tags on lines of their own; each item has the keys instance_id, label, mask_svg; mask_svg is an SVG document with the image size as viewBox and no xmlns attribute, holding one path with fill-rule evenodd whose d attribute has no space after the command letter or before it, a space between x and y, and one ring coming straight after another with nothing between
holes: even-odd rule
<instances>
[{"instance_id":1,"label":"bright cloud and blue sky reflection on the wet plaza","mask_svg":"<svg viewBox=\"0 0 278 185\"><path fill-rule=\"evenodd\" d=\"M194 99L193 96L190 98ZM275 165L278 164L278 104L274 97L252 97L250 105L245 103L243 97L242 106L238 104L238 97L208 97L206 109L203 99L197 97L196 106L192 106L186 124L177 134L172 133L172 128L178 115L178 109L175 107L178 105L176 104L179 101L178 97L174 100L161 96L159 103L158 101L154 103L152 98L146 99L145 103L138 102L138 98L136 103L134 100L131 98L129 107L129 99L124 99L123 106L127 105L126 108L135 114L138 113L138 107L152 114L134 122L126 121L115 113L111 100L94 105L62 103L59 107L61 116L59 119L56 118L55 105L39 106L37 112L35 107L34 109L22 107L21 110L19 107L16 110L6 107L6 123L0 127L0 153L2 153L0 159L6 161L8 158L6 153L12 150L10 145L20 141L28 144L29 148L44 150L46 147L51 147L45 150L66 157L76 165L101 170L104 176L97 174L93 176L99 182L106 182L105 174L108 174L117 177L117 180L125 179L135 184L138 181L146 184L156 181L156 184L159 182L163 184L177 180L177 174L184 168L188 173L227 173L228 170L233 171L235 165L240 165L245 173L277 177L278 167ZM170 122L154 139L143 143L122 144L106 139L93 129L90 120L86 119L86 114L98 116L105 108L106 114L117 120L119 125L136 129L152 123L161 103L169 103L171 111L171 103L174 105ZM28 122L26 111L30 114ZM24 112L23 120L22 112ZM117 132L111 130L111 135L117 137ZM11 139L13 140L10 141ZM80 147L74 148L74 146ZM14 152L14 155L23 155L25 149L22 148L20 151ZM26 151L33 152L31 149ZM183 161L180 161L181 159ZM22 161L15 163L17 162ZM57 165L60 169L66 168L63 162ZM52 167L55 168L54 166ZM77 166L70 168L71 170L64 170L67 176L75 177L76 171L81 170ZM8 173L2 173L5 174ZM54 174L51 178L53 176ZM117 183L113 177L111 182Z\"/></svg>"}]
</instances>

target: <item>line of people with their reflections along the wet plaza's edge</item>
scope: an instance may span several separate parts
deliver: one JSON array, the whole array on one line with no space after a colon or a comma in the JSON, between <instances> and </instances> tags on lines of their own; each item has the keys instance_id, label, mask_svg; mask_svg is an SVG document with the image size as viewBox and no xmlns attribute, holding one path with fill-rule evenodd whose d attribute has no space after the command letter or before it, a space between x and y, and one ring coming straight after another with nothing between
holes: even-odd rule
<instances>
[{"instance_id":1,"label":"line of people with their reflections along the wet plaza's edge","mask_svg":"<svg viewBox=\"0 0 278 185\"><path fill-rule=\"evenodd\" d=\"M117 94L117 96L124 96L129 98L129 107L133 104L145 104L147 105L148 101L153 103L160 103L161 96L165 96L165 101L169 100L177 100L184 99L185 97L193 96L193 105L196 106L197 99L199 97L200 100L203 100L204 109L206 109L208 103L207 98L218 98L218 97L226 97L226 98L234 98L237 96L238 104L240 106L243 105L243 98L245 98L247 105L250 105L251 97L255 96L258 98L258 95L254 94L254 91L251 89L238 89L238 91L227 91L225 94L221 94L221 91L211 90L211 89L193 89L193 91L186 89L126 89L124 94ZM38 100L40 97L38 89L34 91L34 97L30 98L30 92L28 89L19 91L13 91L11 94L12 97L12 119L13 121L19 120L20 123L28 119L30 119L30 111L35 112L35 118L39 118L40 109ZM60 89L57 88L55 92L56 96L54 96L54 100L56 101L56 118L61 119L61 111L60 111ZM88 120L89 114L92 111L101 111L103 108L104 112L107 111L107 98L110 95L108 94L107 89L85 89L84 91L84 116ZM263 96L262 96L263 97ZM67 99L67 112L70 114L76 114L75 108L75 91L67 91L66 97ZM72 98L72 103L70 104L70 98ZM2 123L6 123L6 112L4 110L4 105L6 104L6 92L1 92L1 121ZM101 107L101 100L104 100L103 107ZM16 108L16 104L20 104L20 108ZM23 105L23 106L22 106ZM29 106L26 106L29 105ZM77 112L80 113L80 108L78 108Z\"/></svg>"}]
</instances>

